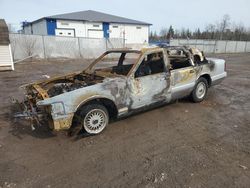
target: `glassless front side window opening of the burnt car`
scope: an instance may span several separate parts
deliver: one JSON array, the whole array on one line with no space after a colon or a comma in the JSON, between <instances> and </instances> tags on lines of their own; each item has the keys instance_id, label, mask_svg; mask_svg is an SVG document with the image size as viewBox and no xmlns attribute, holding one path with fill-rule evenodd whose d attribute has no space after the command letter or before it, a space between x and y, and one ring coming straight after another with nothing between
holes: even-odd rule
<instances>
[{"instance_id":1,"label":"glassless front side window opening of the burnt car","mask_svg":"<svg viewBox=\"0 0 250 188\"><path fill-rule=\"evenodd\" d=\"M135 72L135 77L142 77L165 72L165 63L163 52L152 53L147 55L141 62L139 68Z\"/></svg>"}]
</instances>

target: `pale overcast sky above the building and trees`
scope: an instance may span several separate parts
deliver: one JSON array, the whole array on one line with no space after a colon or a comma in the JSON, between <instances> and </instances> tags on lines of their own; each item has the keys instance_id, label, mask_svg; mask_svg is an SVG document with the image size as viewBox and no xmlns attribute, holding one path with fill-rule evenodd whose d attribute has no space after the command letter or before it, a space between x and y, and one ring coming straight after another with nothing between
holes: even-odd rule
<instances>
[{"instance_id":1,"label":"pale overcast sky above the building and trees","mask_svg":"<svg viewBox=\"0 0 250 188\"><path fill-rule=\"evenodd\" d=\"M204 29L225 14L250 27L250 0L0 0L0 18L16 27L24 20L82 10L149 22L157 31L170 25Z\"/></svg>"}]
</instances>

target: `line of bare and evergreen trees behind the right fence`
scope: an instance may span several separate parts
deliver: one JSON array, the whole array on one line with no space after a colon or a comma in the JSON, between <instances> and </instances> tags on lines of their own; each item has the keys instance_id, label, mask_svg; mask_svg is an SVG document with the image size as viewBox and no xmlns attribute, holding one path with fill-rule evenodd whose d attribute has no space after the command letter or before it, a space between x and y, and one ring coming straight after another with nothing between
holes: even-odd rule
<instances>
[{"instance_id":1,"label":"line of bare and evergreen trees behind the right fence","mask_svg":"<svg viewBox=\"0 0 250 188\"><path fill-rule=\"evenodd\" d=\"M220 22L208 24L203 31L197 28L191 31L188 28L175 30L171 25L162 28L159 33L150 33L150 41L169 41L170 39L210 39L210 40L237 40L250 41L250 29L243 24L233 24L229 15L224 15Z\"/></svg>"}]
</instances>

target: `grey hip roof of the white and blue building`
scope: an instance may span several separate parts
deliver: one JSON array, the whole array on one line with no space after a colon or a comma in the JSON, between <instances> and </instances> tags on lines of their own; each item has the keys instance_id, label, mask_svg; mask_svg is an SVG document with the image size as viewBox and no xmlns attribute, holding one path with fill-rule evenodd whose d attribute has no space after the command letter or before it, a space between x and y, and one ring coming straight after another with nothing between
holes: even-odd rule
<instances>
[{"instance_id":1,"label":"grey hip roof of the white and blue building","mask_svg":"<svg viewBox=\"0 0 250 188\"><path fill-rule=\"evenodd\" d=\"M72 12L67 14L58 14L54 16L48 16L45 18L50 19L62 19L62 20L76 20L76 21L89 21L89 22L108 22L108 23L122 23L122 24L138 24L138 25L152 25L150 23L114 16L111 14L105 14L93 10Z\"/></svg>"}]
</instances>

